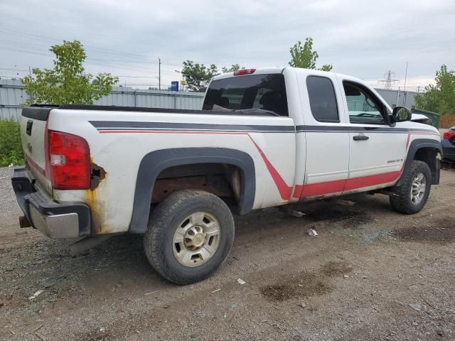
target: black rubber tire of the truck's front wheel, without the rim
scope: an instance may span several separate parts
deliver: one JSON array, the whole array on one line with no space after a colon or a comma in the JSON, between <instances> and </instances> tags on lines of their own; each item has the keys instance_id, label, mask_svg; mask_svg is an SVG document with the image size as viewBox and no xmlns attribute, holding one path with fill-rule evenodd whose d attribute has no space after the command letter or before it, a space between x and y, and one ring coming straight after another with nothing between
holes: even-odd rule
<instances>
[{"instance_id":1,"label":"black rubber tire of the truck's front wheel, without the rim","mask_svg":"<svg viewBox=\"0 0 455 341\"><path fill-rule=\"evenodd\" d=\"M426 188L422 200L417 204L411 200L412 183L417 174L422 173L426 180ZM402 184L396 188L395 193L398 196L390 196L390 205L392 208L405 215L413 215L420 212L427 203L429 192L432 186L432 171L430 171L427 163L414 160L411 163L409 170L402 175Z\"/></svg>"}]
</instances>

